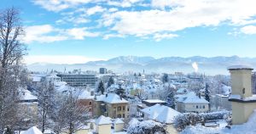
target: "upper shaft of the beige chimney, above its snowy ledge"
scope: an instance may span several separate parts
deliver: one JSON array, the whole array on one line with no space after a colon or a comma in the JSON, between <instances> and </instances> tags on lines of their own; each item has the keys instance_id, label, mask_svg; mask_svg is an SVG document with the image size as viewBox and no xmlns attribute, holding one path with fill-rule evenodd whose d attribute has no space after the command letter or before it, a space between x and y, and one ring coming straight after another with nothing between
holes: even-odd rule
<instances>
[{"instance_id":1,"label":"upper shaft of the beige chimney, above its snowy ledge","mask_svg":"<svg viewBox=\"0 0 256 134\"><path fill-rule=\"evenodd\" d=\"M230 70L232 95L240 95L241 98L252 97L252 68L245 65L234 65Z\"/></svg>"}]
</instances>

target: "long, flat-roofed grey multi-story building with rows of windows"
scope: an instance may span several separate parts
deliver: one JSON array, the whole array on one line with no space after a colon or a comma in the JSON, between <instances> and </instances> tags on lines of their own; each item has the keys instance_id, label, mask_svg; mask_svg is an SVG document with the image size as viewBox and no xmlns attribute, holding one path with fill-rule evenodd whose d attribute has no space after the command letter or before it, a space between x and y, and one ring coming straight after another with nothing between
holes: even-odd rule
<instances>
[{"instance_id":1,"label":"long, flat-roofed grey multi-story building with rows of windows","mask_svg":"<svg viewBox=\"0 0 256 134\"><path fill-rule=\"evenodd\" d=\"M61 81L66 81L70 87L96 87L96 75L89 74L58 74Z\"/></svg>"}]
</instances>

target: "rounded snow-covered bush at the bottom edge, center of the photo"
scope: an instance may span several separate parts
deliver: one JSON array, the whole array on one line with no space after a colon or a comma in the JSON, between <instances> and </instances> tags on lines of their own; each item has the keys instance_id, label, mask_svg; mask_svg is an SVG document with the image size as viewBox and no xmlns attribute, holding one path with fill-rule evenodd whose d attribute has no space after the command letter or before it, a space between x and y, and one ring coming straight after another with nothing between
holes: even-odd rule
<instances>
[{"instance_id":1,"label":"rounded snow-covered bush at the bottom edge, center of the photo","mask_svg":"<svg viewBox=\"0 0 256 134\"><path fill-rule=\"evenodd\" d=\"M166 134L165 126L154 120L144 120L131 124L127 129L127 134Z\"/></svg>"}]
</instances>

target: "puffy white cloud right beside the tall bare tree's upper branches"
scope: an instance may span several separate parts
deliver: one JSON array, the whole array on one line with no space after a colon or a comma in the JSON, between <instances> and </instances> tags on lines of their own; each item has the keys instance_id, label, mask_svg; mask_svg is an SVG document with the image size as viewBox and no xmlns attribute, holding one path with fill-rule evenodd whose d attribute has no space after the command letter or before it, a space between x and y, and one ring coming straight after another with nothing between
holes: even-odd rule
<instances>
[{"instance_id":1,"label":"puffy white cloud right beside the tall bare tree's upper branches","mask_svg":"<svg viewBox=\"0 0 256 134\"><path fill-rule=\"evenodd\" d=\"M32 43L32 42L56 42L67 40L67 36L55 35L49 36L49 33L55 32L51 25L33 25L25 27L26 35L24 36L22 42Z\"/></svg>"}]
</instances>

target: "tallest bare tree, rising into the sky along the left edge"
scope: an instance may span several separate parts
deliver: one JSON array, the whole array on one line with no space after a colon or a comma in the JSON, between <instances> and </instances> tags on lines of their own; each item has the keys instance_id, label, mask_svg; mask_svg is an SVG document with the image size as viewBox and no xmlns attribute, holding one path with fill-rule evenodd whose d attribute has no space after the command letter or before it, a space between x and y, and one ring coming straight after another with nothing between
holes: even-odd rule
<instances>
[{"instance_id":1,"label":"tallest bare tree, rising into the sky along the left edge","mask_svg":"<svg viewBox=\"0 0 256 134\"><path fill-rule=\"evenodd\" d=\"M24 34L19 11L7 8L0 11L0 133L15 127L17 120L20 60L26 47L19 38Z\"/></svg>"}]
</instances>

